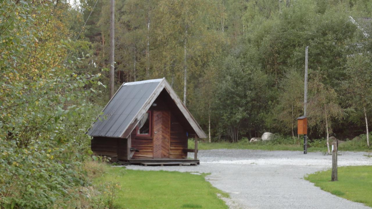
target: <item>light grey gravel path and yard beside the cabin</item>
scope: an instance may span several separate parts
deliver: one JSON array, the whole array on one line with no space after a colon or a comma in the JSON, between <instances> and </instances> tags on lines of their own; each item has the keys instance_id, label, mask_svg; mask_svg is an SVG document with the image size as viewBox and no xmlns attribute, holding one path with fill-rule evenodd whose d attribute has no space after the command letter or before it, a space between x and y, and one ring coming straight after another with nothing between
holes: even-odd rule
<instances>
[{"instance_id":1,"label":"light grey gravel path and yard beside the cabin","mask_svg":"<svg viewBox=\"0 0 372 209\"><path fill-rule=\"evenodd\" d=\"M365 152L339 152L338 164L372 165ZM191 157L191 156L190 156ZM231 209L371 209L361 203L337 197L303 179L306 174L331 167L330 155L299 151L215 149L201 150L198 166L144 167L134 170L167 170L211 173L206 180L230 194L225 202Z\"/></svg>"}]
</instances>

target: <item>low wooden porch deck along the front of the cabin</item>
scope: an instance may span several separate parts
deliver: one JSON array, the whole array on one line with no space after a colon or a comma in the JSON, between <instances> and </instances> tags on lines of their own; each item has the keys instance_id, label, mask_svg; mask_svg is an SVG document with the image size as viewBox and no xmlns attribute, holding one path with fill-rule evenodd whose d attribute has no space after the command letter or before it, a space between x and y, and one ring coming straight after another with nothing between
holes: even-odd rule
<instances>
[{"instance_id":1,"label":"low wooden porch deck along the front of the cabin","mask_svg":"<svg viewBox=\"0 0 372 209\"><path fill-rule=\"evenodd\" d=\"M199 165L199 160L191 159L173 159L173 158L153 158L153 159L131 159L126 161L119 161L120 164L132 165Z\"/></svg>"}]
</instances>

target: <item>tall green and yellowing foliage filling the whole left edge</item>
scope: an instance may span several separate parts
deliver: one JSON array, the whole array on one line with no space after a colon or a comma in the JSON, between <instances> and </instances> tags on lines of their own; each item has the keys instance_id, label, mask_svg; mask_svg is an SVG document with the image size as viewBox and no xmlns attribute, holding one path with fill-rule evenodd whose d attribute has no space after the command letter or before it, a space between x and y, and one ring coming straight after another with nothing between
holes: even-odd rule
<instances>
[{"instance_id":1,"label":"tall green and yellowing foliage filling the whole left edge","mask_svg":"<svg viewBox=\"0 0 372 209\"><path fill-rule=\"evenodd\" d=\"M99 110L87 87L100 82L76 71L86 56L67 59L89 50L69 40L81 16L69 7L0 2L0 208L76 208L88 195L85 132Z\"/></svg>"}]
</instances>

